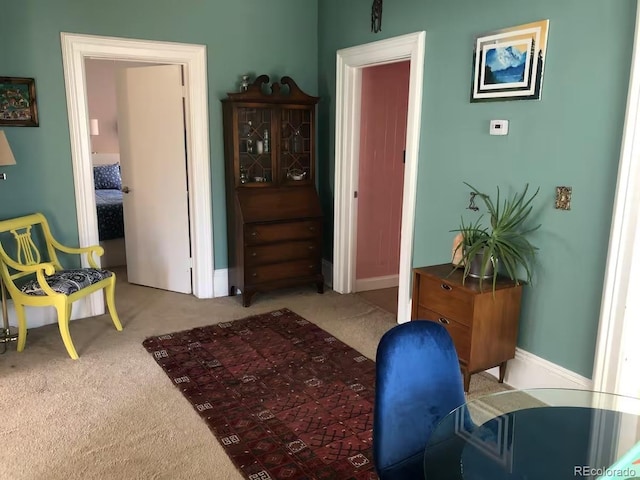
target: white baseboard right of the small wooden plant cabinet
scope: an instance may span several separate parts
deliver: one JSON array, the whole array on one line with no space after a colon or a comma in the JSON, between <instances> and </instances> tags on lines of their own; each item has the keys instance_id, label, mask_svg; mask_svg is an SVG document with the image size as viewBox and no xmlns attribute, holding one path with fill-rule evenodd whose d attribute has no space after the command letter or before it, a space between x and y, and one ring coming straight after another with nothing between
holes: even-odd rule
<instances>
[{"instance_id":1,"label":"white baseboard right of the small wooden plant cabinet","mask_svg":"<svg viewBox=\"0 0 640 480\"><path fill-rule=\"evenodd\" d=\"M487 370L498 378L498 368ZM519 390L525 388L573 388L590 390L591 379L578 375L525 350L516 349L516 357L507 363L504 382Z\"/></svg>"}]
</instances>

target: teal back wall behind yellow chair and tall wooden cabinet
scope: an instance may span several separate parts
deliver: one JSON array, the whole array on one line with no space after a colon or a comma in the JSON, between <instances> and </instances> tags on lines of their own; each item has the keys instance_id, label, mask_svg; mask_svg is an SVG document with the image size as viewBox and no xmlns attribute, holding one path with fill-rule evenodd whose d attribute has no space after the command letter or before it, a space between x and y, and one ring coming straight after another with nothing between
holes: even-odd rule
<instances>
[{"instance_id":1,"label":"teal back wall behind yellow chair and tall wooden cabinet","mask_svg":"<svg viewBox=\"0 0 640 480\"><path fill-rule=\"evenodd\" d=\"M0 76L36 79L40 127L4 127L17 165L0 170L0 218L41 211L60 240L77 244L60 32L206 45L215 262L226 268L220 99L244 73L289 75L317 94L316 12L316 0L3 2Z\"/></svg>"}]
</instances>

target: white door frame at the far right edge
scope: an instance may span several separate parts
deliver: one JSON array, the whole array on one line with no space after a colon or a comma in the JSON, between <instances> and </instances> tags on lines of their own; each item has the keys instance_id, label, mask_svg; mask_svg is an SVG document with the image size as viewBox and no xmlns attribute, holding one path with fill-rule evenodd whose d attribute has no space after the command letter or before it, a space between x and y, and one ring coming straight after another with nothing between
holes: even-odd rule
<instances>
[{"instance_id":1,"label":"white door frame at the far right edge","mask_svg":"<svg viewBox=\"0 0 640 480\"><path fill-rule=\"evenodd\" d=\"M640 6L593 368L594 390L640 395ZM635 255L634 255L635 253Z\"/></svg>"}]
</instances>

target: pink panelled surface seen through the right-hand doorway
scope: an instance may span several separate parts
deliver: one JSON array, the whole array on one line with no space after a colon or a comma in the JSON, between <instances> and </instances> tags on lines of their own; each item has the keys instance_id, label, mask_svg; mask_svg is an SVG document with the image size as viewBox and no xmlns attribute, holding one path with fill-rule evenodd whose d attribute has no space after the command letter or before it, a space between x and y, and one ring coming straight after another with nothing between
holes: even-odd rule
<instances>
[{"instance_id":1,"label":"pink panelled surface seen through the right-hand doorway","mask_svg":"<svg viewBox=\"0 0 640 480\"><path fill-rule=\"evenodd\" d=\"M368 289L367 279L396 276L397 285L409 68L405 61L362 71L357 290Z\"/></svg>"}]
</instances>

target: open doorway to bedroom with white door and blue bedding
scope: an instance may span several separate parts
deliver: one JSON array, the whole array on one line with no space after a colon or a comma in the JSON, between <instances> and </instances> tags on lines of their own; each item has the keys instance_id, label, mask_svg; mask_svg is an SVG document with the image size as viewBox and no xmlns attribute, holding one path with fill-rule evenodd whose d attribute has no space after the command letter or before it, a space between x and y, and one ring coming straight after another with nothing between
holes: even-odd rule
<instances>
[{"instance_id":1,"label":"open doorway to bedroom with white door and blue bedding","mask_svg":"<svg viewBox=\"0 0 640 480\"><path fill-rule=\"evenodd\" d=\"M101 265L190 294L182 66L86 60L85 71Z\"/></svg>"}]
</instances>

